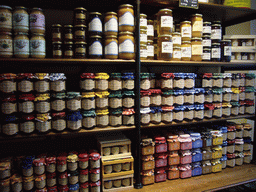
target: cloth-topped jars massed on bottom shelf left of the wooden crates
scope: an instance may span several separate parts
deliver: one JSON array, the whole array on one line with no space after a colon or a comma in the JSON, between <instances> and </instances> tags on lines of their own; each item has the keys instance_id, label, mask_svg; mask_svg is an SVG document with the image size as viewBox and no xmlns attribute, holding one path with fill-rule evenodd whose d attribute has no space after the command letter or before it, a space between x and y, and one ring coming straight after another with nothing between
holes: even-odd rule
<instances>
[{"instance_id":1,"label":"cloth-topped jars massed on bottom shelf left of the wooden crates","mask_svg":"<svg viewBox=\"0 0 256 192\"><path fill-rule=\"evenodd\" d=\"M100 154L87 152L1 159L1 191L100 191ZM17 160L17 161L14 161ZM13 174L14 173L14 174Z\"/></svg>"}]
</instances>

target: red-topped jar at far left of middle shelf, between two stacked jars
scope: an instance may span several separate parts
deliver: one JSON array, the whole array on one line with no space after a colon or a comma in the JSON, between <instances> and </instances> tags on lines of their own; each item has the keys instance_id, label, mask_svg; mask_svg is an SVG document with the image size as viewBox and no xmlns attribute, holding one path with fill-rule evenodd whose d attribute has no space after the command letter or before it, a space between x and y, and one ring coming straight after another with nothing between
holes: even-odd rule
<instances>
[{"instance_id":1,"label":"red-topped jar at far left of middle shelf, between two stacked jars","mask_svg":"<svg viewBox=\"0 0 256 192\"><path fill-rule=\"evenodd\" d=\"M15 95L6 95L1 98L1 112L4 115L15 115L18 112L17 99Z\"/></svg>"}]
</instances>

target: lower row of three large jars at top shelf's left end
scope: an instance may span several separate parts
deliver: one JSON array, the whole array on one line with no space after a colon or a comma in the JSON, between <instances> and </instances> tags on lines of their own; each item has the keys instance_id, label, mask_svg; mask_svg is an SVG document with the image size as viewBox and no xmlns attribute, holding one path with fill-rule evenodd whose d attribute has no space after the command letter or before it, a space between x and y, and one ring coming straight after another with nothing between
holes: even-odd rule
<instances>
[{"instance_id":1,"label":"lower row of three large jars at top shelf's left end","mask_svg":"<svg viewBox=\"0 0 256 192\"><path fill-rule=\"evenodd\" d=\"M37 58L46 56L45 38L43 33L0 32L0 57Z\"/></svg>"}]
</instances>

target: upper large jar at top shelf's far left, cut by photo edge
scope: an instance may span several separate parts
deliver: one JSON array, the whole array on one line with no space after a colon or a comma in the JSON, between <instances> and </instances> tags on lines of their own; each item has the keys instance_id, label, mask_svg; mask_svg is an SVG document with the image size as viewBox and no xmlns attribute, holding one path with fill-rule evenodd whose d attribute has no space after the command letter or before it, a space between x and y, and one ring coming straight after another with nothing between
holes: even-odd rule
<instances>
[{"instance_id":1,"label":"upper large jar at top shelf's far left, cut by photo edge","mask_svg":"<svg viewBox=\"0 0 256 192\"><path fill-rule=\"evenodd\" d=\"M0 22L0 31L1 32L11 32L12 31L12 8L6 5L0 5L0 13L2 19Z\"/></svg>"}]
</instances>

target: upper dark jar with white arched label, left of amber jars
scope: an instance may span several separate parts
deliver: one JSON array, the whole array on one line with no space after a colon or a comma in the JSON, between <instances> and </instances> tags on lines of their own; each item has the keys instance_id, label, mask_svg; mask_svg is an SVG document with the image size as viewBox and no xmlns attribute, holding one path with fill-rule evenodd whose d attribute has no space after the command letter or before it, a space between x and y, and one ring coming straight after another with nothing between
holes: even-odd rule
<instances>
[{"instance_id":1,"label":"upper dark jar with white arched label, left of amber jars","mask_svg":"<svg viewBox=\"0 0 256 192\"><path fill-rule=\"evenodd\" d=\"M99 12L89 13L88 32L90 36L93 36L93 35L102 36L101 13Z\"/></svg>"}]
</instances>

